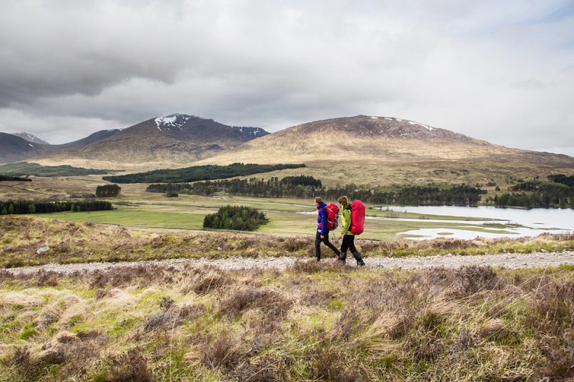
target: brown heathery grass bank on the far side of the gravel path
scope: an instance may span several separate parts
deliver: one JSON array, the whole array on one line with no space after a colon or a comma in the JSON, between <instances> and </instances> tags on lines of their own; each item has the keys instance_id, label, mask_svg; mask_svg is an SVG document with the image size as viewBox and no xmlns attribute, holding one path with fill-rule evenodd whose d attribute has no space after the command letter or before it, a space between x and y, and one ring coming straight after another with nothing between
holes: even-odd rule
<instances>
[{"instance_id":1,"label":"brown heathery grass bank on the far side of the gravel path","mask_svg":"<svg viewBox=\"0 0 574 382\"><path fill-rule=\"evenodd\" d=\"M73 213L71 213L73 215ZM174 258L226 258L314 255L314 236L279 236L197 231L155 234L116 225L5 215L0 218L0 267L49 263L118 262ZM332 238L335 245L339 239ZM365 257L491 255L561 252L574 248L574 234L541 234L517 239L434 239L374 241L356 239ZM38 250L49 248L48 250Z\"/></svg>"}]
</instances>

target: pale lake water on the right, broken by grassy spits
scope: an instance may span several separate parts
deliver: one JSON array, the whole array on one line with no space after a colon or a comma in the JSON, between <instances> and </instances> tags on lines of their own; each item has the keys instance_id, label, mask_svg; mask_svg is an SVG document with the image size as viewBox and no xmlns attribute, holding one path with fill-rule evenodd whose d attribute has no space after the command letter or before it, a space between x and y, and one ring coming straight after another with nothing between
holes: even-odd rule
<instances>
[{"instance_id":1,"label":"pale lake water on the right, broken by grassy spits","mask_svg":"<svg viewBox=\"0 0 574 382\"><path fill-rule=\"evenodd\" d=\"M386 207L381 209L385 210ZM449 237L454 239L475 239L477 236L486 238L536 236L548 232L563 234L574 232L574 209L571 208L533 208L530 210L519 208L496 208L496 207L459 207L459 206L389 206L389 210L395 213L410 212L425 215L455 216L458 218L484 218L489 221L466 221L454 220L423 220L424 222L449 222L460 225L459 228L424 228L400 232L405 239L435 239L437 237ZM409 219L393 219L409 221ZM410 221L413 221L410 219ZM415 219L414 221L421 221ZM480 227L488 223L502 223L508 226L504 229L493 229L481 232ZM519 225L521 227L514 227ZM500 231L500 232L496 232Z\"/></svg>"}]
</instances>

